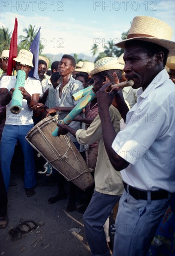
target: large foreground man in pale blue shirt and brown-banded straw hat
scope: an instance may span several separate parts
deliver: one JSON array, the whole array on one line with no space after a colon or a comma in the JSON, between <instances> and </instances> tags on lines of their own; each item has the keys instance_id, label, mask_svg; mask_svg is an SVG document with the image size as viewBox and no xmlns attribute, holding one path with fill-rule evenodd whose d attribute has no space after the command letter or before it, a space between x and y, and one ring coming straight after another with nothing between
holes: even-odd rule
<instances>
[{"instance_id":1,"label":"large foreground man in pale blue shirt and brown-banded straw hat","mask_svg":"<svg viewBox=\"0 0 175 256\"><path fill-rule=\"evenodd\" d=\"M171 35L161 20L137 16L127 39L117 44L125 48L126 79L140 88L117 135L109 112L117 89L106 84L97 92L105 148L115 170L122 170L125 187L113 256L147 254L175 192L175 86L164 69L168 54L175 55Z\"/></svg>"}]
</instances>

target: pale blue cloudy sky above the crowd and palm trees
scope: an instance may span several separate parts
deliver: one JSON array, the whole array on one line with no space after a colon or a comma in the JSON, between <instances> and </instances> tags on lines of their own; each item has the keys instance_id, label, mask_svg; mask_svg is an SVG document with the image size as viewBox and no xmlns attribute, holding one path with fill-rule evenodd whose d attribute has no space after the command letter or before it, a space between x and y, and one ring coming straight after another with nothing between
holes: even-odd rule
<instances>
[{"instance_id":1,"label":"pale blue cloudy sky above the crowd and palm trees","mask_svg":"<svg viewBox=\"0 0 175 256\"><path fill-rule=\"evenodd\" d=\"M173 28L175 0L17 0L0 1L0 27L13 31L17 15L18 35L26 35L29 24L41 27L43 54L92 55L94 43L103 51L108 40L117 43L135 16L152 16ZM20 43L20 41L19 41Z\"/></svg>"}]
</instances>

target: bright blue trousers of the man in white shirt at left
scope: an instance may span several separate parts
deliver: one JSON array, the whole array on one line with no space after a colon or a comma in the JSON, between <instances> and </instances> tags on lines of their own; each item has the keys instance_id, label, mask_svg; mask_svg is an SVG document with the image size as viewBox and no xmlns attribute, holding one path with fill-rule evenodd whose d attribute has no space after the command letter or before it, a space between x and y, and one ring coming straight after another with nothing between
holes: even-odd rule
<instances>
[{"instance_id":1,"label":"bright blue trousers of the man in white shirt at left","mask_svg":"<svg viewBox=\"0 0 175 256\"><path fill-rule=\"evenodd\" d=\"M31 145L25 139L25 136L32 127L33 124L21 126L5 125L4 127L0 144L0 164L2 175L4 177L6 191L8 190L10 182L10 165L12 162L12 156L14 154L14 148L18 140L21 143L24 154L24 187L26 189L31 189L36 185L34 152Z\"/></svg>"}]
</instances>

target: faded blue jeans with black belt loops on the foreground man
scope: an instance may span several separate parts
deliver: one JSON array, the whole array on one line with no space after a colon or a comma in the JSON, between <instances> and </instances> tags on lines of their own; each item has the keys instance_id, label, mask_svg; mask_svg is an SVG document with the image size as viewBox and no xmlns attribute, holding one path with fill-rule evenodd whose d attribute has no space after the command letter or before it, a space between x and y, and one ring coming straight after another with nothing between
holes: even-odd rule
<instances>
[{"instance_id":1,"label":"faded blue jeans with black belt loops on the foreground man","mask_svg":"<svg viewBox=\"0 0 175 256\"><path fill-rule=\"evenodd\" d=\"M146 255L168 205L169 199L136 200L124 191L115 221L113 256Z\"/></svg>"}]
</instances>

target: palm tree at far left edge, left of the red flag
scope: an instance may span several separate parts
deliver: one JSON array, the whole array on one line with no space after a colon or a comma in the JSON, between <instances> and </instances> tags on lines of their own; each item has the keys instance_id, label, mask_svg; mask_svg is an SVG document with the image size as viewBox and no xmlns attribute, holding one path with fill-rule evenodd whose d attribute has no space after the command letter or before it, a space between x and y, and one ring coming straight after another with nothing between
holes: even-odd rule
<instances>
[{"instance_id":1,"label":"palm tree at far left edge, left of the red flag","mask_svg":"<svg viewBox=\"0 0 175 256\"><path fill-rule=\"evenodd\" d=\"M0 28L0 53L10 48L11 34L7 27Z\"/></svg>"}]
</instances>

